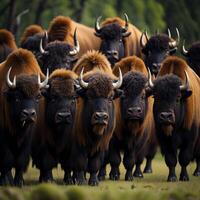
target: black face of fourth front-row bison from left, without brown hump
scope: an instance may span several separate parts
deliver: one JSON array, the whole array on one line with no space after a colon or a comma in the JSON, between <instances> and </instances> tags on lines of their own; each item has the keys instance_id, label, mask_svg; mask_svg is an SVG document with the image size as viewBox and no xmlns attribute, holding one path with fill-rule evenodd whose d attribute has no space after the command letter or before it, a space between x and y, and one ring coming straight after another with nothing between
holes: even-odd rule
<instances>
[{"instance_id":1,"label":"black face of fourth front-row bison from left, without brown hump","mask_svg":"<svg viewBox=\"0 0 200 200\"><path fill-rule=\"evenodd\" d=\"M122 118L133 133L138 131L146 116L148 105L146 83L147 78L140 72L130 71L123 77Z\"/></svg>"}]
</instances>

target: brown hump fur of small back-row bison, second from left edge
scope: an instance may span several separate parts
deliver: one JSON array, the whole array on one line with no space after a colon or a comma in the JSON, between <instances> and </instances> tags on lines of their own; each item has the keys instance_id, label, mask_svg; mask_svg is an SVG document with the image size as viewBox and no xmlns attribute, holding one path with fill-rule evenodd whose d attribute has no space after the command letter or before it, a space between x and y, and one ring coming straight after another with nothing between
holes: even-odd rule
<instances>
[{"instance_id":1,"label":"brown hump fur of small back-row bison, second from left edge","mask_svg":"<svg viewBox=\"0 0 200 200\"><path fill-rule=\"evenodd\" d=\"M22 34L20 43L23 44L27 40L28 37L34 36L35 34L43 33L43 32L44 30L41 26L36 25L36 24L30 25L25 29L24 33Z\"/></svg>"}]
</instances>

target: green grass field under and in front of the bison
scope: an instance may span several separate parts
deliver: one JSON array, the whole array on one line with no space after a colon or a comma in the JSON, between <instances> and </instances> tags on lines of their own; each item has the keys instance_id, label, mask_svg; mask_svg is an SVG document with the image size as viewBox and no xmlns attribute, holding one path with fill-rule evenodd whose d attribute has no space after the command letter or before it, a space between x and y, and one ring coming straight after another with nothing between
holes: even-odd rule
<instances>
[{"instance_id":1,"label":"green grass field under and in front of the bison","mask_svg":"<svg viewBox=\"0 0 200 200\"><path fill-rule=\"evenodd\" d=\"M98 187L91 187L62 185L63 172L60 168L53 171L57 184L38 185L38 170L30 167L24 176L26 186L22 189L2 187L0 200L200 200L200 177L192 176L194 169L194 163L188 166L189 182L168 183L168 169L158 154L153 162L153 174L145 174L143 179L125 182L121 166L120 181L109 181L107 177ZM177 177L179 173L180 167L177 166Z\"/></svg>"}]
</instances>

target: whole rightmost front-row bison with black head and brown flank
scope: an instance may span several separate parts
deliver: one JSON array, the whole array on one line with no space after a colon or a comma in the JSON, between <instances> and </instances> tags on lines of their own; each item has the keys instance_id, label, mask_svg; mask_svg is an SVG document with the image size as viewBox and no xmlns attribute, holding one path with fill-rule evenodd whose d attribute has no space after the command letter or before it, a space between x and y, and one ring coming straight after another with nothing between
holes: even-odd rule
<instances>
[{"instance_id":1,"label":"whole rightmost front-row bison with black head and brown flank","mask_svg":"<svg viewBox=\"0 0 200 200\"><path fill-rule=\"evenodd\" d=\"M178 57L167 58L158 78L149 82L149 92L154 96L156 134L169 168L168 181L177 179L177 154L181 181L189 180L187 166L193 157L197 159L195 175L200 174L199 146L194 154L200 127L199 86L199 77Z\"/></svg>"}]
</instances>

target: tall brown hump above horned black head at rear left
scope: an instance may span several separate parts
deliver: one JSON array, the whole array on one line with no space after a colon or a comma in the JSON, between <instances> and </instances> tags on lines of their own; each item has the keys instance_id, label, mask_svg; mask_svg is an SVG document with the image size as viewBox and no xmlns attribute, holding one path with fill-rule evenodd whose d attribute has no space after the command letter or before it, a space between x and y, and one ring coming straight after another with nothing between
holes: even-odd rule
<instances>
[{"instance_id":1,"label":"tall brown hump above horned black head at rear left","mask_svg":"<svg viewBox=\"0 0 200 200\"><path fill-rule=\"evenodd\" d=\"M72 20L69 17L57 16L49 26L49 41L67 41L72 42Z\"/></svg>"}]
</instances>

